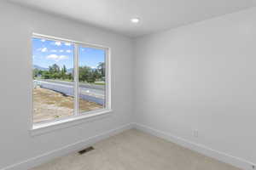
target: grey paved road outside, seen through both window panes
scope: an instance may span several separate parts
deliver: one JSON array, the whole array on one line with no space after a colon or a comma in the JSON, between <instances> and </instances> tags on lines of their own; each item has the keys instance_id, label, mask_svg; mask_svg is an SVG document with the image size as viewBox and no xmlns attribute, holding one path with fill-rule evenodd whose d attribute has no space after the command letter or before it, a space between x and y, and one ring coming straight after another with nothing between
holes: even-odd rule
<instances>
[{"instance_id":1,"label":"grey paved road outside, seen through both window panes","mask_svg":"<svg viewBox=\"0 0 256 170\"><path fill-rule=\"evenodd\" d=\"M73 87L73 82L64 82L64 81L56 81L56 80L35 80L34 82L40 83L47 83L52 84L55 86ZM101 85L90 85L85 83L80 83L79 85L80 94L94 96L96 98L104 99L105 96L105 86Z\"/></svg>"}]
</instances>

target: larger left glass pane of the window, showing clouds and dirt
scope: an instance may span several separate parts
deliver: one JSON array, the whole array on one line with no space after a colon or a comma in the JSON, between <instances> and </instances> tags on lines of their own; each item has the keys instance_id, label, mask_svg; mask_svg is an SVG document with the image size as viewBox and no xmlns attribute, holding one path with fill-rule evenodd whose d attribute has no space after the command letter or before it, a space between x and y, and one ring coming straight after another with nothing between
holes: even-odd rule
<instances>
[{"instance_id":1,"label":"larger left glass pane of the window, showing clouds and dirt","mask_svg":"<svg viewBox=\"0 0 256 170\"><path fill-rule=\"evenodd\" d=\"M73 52L71 43L32 38L33 122L73 115Z\"/></svg>"}]
</instances>

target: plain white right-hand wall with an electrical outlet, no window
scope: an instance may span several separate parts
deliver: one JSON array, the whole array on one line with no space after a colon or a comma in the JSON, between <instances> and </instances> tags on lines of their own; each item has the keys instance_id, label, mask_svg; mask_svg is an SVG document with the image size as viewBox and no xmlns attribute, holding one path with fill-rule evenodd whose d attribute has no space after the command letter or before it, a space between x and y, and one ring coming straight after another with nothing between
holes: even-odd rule
<instances>
[{"instance_id":1,"label":"plain white right-hand wall with an electrical outlet, no window","mask_svg":"<svg viewBox=\"0 0 256 170\"><path fill-rule=\"evenodd\" d=\"M136 53L138 124L256 162L256 8L137 38Z\"/></svg>"}]
</instances>

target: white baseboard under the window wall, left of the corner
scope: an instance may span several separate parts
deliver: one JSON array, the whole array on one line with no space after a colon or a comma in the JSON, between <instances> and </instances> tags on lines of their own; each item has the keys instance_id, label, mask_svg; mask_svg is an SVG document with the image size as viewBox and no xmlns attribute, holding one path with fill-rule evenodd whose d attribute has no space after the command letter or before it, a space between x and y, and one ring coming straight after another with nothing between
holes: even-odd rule
<instances>
[{"instance_id":1,"label":"white baseboard under the window wall, left of the corner","mask_svg":"<svg viewBox=\"0 0 256 170\"><path fill-rule=\"evenodd\" d=\"M32 167L36 167L44 162L55 159L56 157L64 156L70 152L80 150L86 146L89 146L90 144L95 144L97 141L107 139L114 134L121 133L125 130L131 129L132 127L133 124L127 124L125 126L115 128L108 132L90 137L89 139L80 140L74 144L68 144L67 146L59 148L57 150L52 150L50 152L44 153L43 155L32 157L26 161L20 161L14 165L10 165L9 167L3 167L3 169L1 170L27 170Z\"/></svg>"}]
</instances>

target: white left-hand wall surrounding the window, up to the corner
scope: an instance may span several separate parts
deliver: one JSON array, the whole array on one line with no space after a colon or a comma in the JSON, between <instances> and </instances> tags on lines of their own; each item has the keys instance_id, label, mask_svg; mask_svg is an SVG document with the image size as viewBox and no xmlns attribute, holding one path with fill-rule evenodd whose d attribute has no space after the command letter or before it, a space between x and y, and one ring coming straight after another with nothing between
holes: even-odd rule
<instances>
[{"instance_id":1,"label":"white left-hand wall surrounding the window, up to the corner","mask_svg":"<svg viewBox=\"0 0 256 170\"><path fill-rule=\"evenodd\" d=\"M131 122L132 42L112 32L0 2L0 169ZM32 137L32 31L112 49L113 114Z\"/></svg>"}]
</instances>

